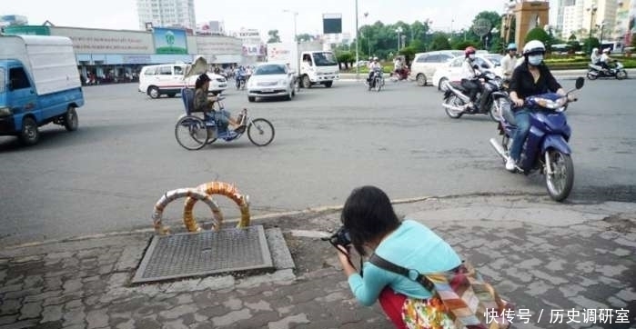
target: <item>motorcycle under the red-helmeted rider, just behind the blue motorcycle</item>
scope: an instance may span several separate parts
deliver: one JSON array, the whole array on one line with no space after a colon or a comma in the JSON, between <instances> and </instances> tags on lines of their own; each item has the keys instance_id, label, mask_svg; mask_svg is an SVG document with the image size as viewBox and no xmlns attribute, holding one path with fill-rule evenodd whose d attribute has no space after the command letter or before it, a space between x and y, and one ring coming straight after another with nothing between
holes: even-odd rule
<instances>
[{"instance_id":1,"label":"motorcycle under the red-helmeted rider, just behind the blue motorcycle","mask_svg":"<svg viewBox=\"0 0 636 329\"><path fill-rule=\"evenodd\" d=\"M480 93L476 97L474 103L475 108L466 108L466 105L470 102L468 91L464 88L460 82L446 82L446 92L444 92L444 103L442 106L446 111L446 114L453 119L459 119L461 115L490 115L492 121L499 122L500 109L499 103L496 100L505 94L501 85L501 79L494 73L486 71L477 78L484 79L483 93ZM503 94L502 94L503 93ZM489 97L483 108L479 108L481 97Z\"/></svg>"}]
</instances>

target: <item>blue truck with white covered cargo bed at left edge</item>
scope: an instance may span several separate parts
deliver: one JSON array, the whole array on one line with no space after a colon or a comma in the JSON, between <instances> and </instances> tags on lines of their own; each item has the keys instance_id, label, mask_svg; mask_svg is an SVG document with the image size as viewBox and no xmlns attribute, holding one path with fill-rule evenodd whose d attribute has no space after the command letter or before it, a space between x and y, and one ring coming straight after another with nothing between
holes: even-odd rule
<instances>
[{"instance_id":1,"label":"blue truck with white covered cargo bed at left edge","mask_svg":"<svg viewBox=\"0 0 636 329\"><path fill-rule=\"evenodd\" d=\"M0 36L0 135L35 145L38 127L77 129L84 105L71 39L49 35Z\"/></svg>"}]
</instances>

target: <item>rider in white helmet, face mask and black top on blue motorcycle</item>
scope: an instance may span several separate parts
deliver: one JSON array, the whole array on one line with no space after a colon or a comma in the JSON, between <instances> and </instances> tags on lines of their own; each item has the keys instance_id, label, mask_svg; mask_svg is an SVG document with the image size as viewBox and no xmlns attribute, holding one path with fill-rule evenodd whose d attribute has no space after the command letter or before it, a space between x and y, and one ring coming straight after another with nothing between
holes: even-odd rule
<instances>
[{"instance_id":1,"label":"rider in white helmet, face mask and black top on blue motorcycle","mask_svg":"<svg viewBox=\"0 0 636 329\"><path fill-rule=\"evenodd\" d=\"M517 130L512 136L510 156L506 161L506 169L514 171L520 161L521 147L530 132L530 111L524 106L524 99L532 95L545 93L557 93L566 95L565 90L559 85L550 73L548 66L543 64L545 45L538 40L532 40L523 46L524 63L517 66L510 79L510 99L515 105L514 115L517 122Z\"/></svg>"}]
</instances>

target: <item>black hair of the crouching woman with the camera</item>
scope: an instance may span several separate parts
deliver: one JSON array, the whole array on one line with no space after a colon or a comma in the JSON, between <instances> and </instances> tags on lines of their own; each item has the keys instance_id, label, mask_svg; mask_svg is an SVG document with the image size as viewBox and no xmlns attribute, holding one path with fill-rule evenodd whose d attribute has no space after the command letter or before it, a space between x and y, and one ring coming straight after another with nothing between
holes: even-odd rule
<instances>
[{"instance_id":1,"label":"black hair of the crouching woman with the camera","mask_svg":"<svg viewBox=\"0 0 636 329\"><path fill-rule=\"evenodd\" d=\"M366 255L363 244L375 241L399 227L389 196L376 186L361 186L347 198L340 216L348 229L351 244Z\"/></svg>"}]
</instances>

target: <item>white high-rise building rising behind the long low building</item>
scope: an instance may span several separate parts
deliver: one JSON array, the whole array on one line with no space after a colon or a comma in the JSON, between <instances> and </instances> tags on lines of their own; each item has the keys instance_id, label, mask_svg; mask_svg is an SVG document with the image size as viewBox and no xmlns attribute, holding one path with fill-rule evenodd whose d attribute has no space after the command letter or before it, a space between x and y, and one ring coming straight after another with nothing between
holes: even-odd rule
<instances>
[{"instance_id":1,"label":"white high-rise building rising behind the long low building","mask_svg":"<svg viewBox=\"0 0 636 329\"><path fill-rule=\"evenodd\" d=\"M139 28L152 26L197 28L194 0L136 0Z\"/></svg>"}]
</instances>

